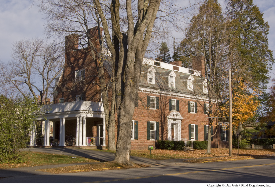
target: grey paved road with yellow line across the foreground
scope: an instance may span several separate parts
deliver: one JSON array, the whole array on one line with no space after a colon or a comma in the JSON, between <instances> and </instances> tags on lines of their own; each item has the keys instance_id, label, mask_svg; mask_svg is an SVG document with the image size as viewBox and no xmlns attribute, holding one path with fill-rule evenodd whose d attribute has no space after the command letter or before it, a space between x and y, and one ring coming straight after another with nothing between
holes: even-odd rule
<instances>
[{"instance_id":1,"label":"grey paved road with yellow line across the foreground","mask_svg":"<svg viewBox=\"0 0 275 188\"><path fill-rule=\"evenodd\" d=\"M82 155L87 155L86 151L79 151ZM79 151L72 149L71 152ZM59 150L59 152L62 151ZM62 154L65 154L63 152ZM77 156L80 153L71 155ZM92 153L94 155L92 157L104 155L107 159L113 156L106 152L92 151ZM170 160L148 168L70 174L35 171L39 168L46 168L46 166L1 169L0 183L275 183L275 158L203 164Z\"/></svg>"}]
</instances>

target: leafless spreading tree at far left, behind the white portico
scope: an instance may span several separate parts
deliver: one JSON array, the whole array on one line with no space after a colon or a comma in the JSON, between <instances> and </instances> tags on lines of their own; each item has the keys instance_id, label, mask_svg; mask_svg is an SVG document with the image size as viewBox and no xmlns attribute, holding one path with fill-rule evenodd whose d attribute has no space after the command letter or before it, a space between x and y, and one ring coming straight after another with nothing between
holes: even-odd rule
<instances>
[{"instance_id":1,"label":"leafless spreading tree at far left, behind the white portico","mask_svg":"<svg viewBox=\"0 0 275 188\"><path fill-rule=\"evenodd\" d=\"M63 52L43 39L22 39L13 44L12 60L1 63L1 85L38 102L48 100L49 90L62 71ZM39 97L38 97L39 96Z\"/></svg>"}]
</instances>

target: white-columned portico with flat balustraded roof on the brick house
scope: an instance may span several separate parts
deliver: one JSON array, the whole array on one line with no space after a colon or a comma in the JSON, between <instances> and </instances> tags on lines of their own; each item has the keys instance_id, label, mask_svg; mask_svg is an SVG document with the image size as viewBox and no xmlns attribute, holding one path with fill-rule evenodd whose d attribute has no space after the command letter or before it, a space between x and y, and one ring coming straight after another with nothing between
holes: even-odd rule
<instances>
[{"instance_id":1,"label":"white-columned portico with flat balustraded roof on the brick house","mask_svg":"<svg viewBox=\"0 0 275 188\"><path fill-rule=\"evenodd\" d=\"M73 101L44 105L38 120L45 121L43 144L31 133L31 145L50 146L50 122L53 122L53 140L58 139L59 146L66 146L66 140L73 139L73 146L106 146L106 128L104 108L101 102ZM67 143L68 144L68 143Z\"/></svg>"}]
</instances>

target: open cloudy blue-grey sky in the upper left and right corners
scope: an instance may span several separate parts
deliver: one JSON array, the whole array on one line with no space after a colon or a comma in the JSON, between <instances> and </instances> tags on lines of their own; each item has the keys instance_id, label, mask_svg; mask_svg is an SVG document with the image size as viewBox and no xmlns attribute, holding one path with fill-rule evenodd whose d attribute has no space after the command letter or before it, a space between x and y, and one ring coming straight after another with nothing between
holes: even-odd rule
<instances>
[{"instance_id":1,"label":"open cloudy blue-grey sky in the upper left and right corners","mask_svg":"<svg viewBox=\"0 0 275 188\"><path fill-rule=\"evenodd\" d=\"M181 0L183 1L183 0ZM187 0L185 0L187 1ZM222 0L218 0L222 2ZM38 1L36 1L38 2ZM180 0L179 0L180 2ZM260 11L264 13L264 20L270 25L268 35L269 48L275 51L275 1L253 0ZM20 39L45 37L44 15L39 12L32 0L1 0L0 7L0 59L8 62L11 58L12 44ZM275 53L273 52L273 56ZM275 78L275 71L270 76Z\"/></svg>"}]
</instances>

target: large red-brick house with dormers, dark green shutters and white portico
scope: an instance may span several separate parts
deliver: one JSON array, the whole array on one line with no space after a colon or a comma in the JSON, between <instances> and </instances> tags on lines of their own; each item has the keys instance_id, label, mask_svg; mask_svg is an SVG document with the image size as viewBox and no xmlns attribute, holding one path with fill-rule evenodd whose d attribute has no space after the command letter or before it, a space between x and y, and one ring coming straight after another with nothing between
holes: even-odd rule
<instances>
[{"instance_id":1,"label":"large red-brick house with dormers, dark green shutters and white portico","mask_svg":"<svg viewBox=\"0 0 275 188\"><path fill-rule=\"evenodd\" d=\"M97 30L92 28L90 35L97 39ZM84 49L78 49L78 40L75 34L66 37L64 70L56 81L54 101L43 107L44 114L38 118L47 125L44 146L50 145L50 122L53 122L53 139L59 140L59 146L66 146L66 135L76 137L75 146L107 144L95 64ZM97 40L93 42L99 47ZM109 61L108 56L104 57L108 78ZM193 63L193 67L204 64L198 58L194 58ZM147 149L148 145L156 145L157 140L204 141L207 138L208 97L204 71L184 68L181 64L144 58L131 124L131 149ZM196 100L196 96L200 100ZM211 142L212 147L217 147L217 142L218 147L227 147L227 137L226 127L221 128Z\"/></svg>"}]
</instances>

